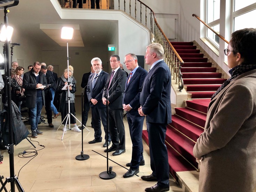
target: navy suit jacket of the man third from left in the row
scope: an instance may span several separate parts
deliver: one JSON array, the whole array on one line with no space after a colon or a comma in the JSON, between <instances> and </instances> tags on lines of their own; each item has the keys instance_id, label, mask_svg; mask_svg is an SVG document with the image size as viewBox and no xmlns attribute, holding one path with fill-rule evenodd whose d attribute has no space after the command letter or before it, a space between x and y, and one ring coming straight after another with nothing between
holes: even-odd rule
<instances>
[{"instance_id":1,"label":"navy suit jacket of the man third from left in the row","mask_svg":"<svg viewBox=\"0 0 256 192\"><path fill-rule=\"evenodd\" d=\"M127 81L130 77L130 74L128 75L128 78L125 83L125 95L123 97L123 103L126 105L130 104L130 106L133 107L133 109L127 111L127 114L140 116L138 113L138 108L141 105L139 104L139 96L141 95L141 86L146 75L147 71L139 66L138 69L133 74L133 76L131 77L129 84L127 85Z\"/></svg>"}]
</instances>

